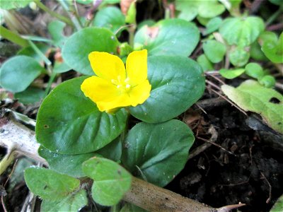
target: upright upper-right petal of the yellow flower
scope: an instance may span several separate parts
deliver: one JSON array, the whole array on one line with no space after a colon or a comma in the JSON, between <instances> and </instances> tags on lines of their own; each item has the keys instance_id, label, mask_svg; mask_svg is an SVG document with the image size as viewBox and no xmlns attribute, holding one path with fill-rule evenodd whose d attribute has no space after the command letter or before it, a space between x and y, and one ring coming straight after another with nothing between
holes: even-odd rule
<instances>
[{"instance_id":1,"label":"upright upper-right petal of the yellow flower","mask_svg":"<svg viewBox=\"0 0 283 212\"><path fill-rule=\"evenodd\" d=\"M129 54L126 61L127 77L132 86L142 83L147 78L147 50L134 51Z\"/></svg>"}]
</instances>

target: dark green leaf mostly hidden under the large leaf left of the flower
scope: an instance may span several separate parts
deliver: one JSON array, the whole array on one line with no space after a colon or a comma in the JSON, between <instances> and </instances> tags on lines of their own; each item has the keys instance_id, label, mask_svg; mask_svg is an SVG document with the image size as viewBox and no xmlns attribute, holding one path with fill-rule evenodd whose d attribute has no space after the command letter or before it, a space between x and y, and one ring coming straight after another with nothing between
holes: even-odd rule
<instances>
[{"instance_id":1,"label":"dark green leaf mostly hidden under the large leaf left of the flower","mask_svg":"<svg viewBox=\"0 0 283 212\"><path fill-rule=\"evenodd\" d=\"M47 148L40 146L38 149L40 157L47 160L51 170L69 175L71 177L85 177L81 170L84 161L92 158L96 153L85 153L79 155L64 155L53 153Z\"/></svg>"}]
</instances>

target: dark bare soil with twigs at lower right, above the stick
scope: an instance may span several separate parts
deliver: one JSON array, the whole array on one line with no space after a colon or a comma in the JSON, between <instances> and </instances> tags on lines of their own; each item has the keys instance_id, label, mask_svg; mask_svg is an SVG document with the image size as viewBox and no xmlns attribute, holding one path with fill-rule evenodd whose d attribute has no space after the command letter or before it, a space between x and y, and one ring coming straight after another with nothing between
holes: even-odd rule
<instances>
[{"instance_id":1,"label":"dark bare soil with twigs at lower right, above the stick","mask_svg":"<svg viewBox=\"0 0 283 212\"><path fill-rule=\"evenodd\" d=\"M204 109L207 114L200 110L186 114L192 117L198 112L202 119L190 123L199 138L190 152L209 139L208 126L216 130L219 146L188 160L166 188L216 208L241 202L246 206L240 211L269 211L283 191L282 151L265 142L260 131L250 129L248 117L236 107L220 106Z\"/></svg>"}]
</instances>

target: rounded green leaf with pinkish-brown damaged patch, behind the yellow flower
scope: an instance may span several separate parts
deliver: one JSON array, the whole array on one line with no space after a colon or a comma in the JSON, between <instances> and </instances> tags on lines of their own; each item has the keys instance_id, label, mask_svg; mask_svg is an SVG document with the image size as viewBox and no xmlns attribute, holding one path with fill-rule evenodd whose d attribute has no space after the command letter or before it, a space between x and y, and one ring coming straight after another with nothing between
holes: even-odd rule
<instances>
[{"instance_id":1,"label":"rounded green leaf with pinkish-brown damaged patch, behind the yellow flower","mask_svg":"<svg viewBox=\"0 0 283 212\"><path fill-rule=\"evenodd\" d=\"M161 20L144 26L134 36L134 47L144 46L149 55L189 56L197 47L200 32L193 23L181 19Z\"/></svg>"}]
</instances>

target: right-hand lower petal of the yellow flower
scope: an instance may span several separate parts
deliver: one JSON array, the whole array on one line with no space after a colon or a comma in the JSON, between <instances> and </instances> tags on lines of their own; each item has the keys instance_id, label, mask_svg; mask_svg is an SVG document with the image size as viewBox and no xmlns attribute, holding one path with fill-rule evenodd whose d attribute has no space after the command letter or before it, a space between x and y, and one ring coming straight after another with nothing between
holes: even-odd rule
<instances>
[{"instance_id":1,"label":"right-hand lower petal of the yellow flower","mask_svg":"<svg viewBox=\"0 0 283 212\"><path fill-rule=\"evenodd\" d=\"M149 98L151 85L148 80L140 83L138 86L132 88L129 92L131 98L131 105L136 107L138 104L144 103Z\"/></svg>"}]
</instances>

